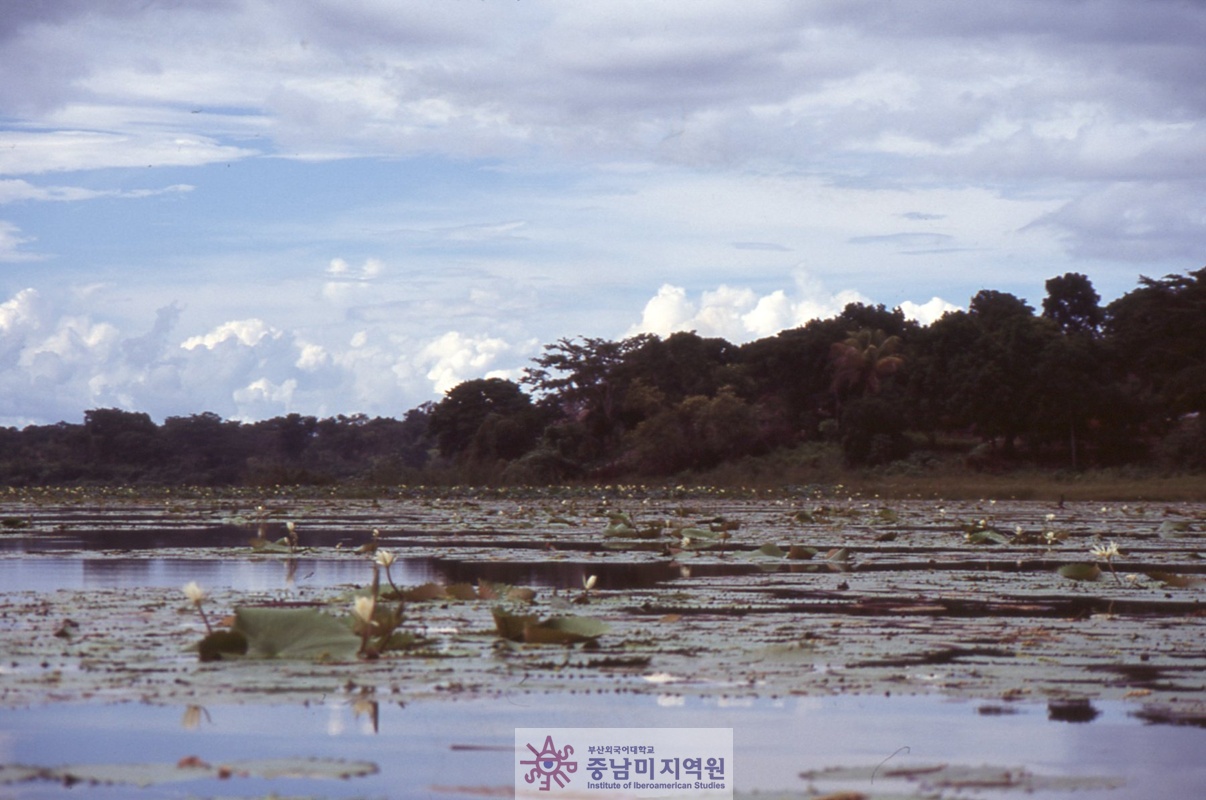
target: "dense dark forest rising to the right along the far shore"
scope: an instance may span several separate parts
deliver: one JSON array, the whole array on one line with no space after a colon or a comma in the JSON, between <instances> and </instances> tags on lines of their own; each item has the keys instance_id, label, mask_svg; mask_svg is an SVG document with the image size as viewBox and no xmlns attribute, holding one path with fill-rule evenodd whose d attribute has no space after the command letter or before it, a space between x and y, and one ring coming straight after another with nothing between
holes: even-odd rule
<instances>
[{"instance_id":1,"label":"dense dark forest rising to the right along the far shore","mask_svg":"<svg viewBox=\"0 0 1206 800\"><path fill-rule=\"evenodd\" d=\"M827 443L850 467L949 452L977 469L1206 468L1206 268L1106 306L1088 278L1042 309L985 290L929 326L883 305L734 345L675 333L546 345L402 419L238 422L94 409L0 428L0 484L514 483L681 474Z\"/></svg>"}]
</instances>

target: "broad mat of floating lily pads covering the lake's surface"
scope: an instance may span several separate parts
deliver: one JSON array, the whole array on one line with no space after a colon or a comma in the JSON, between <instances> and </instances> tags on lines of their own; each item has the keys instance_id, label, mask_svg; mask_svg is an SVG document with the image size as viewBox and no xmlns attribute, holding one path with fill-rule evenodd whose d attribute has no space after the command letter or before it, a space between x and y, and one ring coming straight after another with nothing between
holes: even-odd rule
<instances>
[{"instance_id":1,"label":"broad mat of floating lily pads covering the lake's surface","mask_svg":"<svg viewBox=\"0 0 1206 800\"><path fill-rule=\"evenodd\" d=\"M86 533L119 522L122 508L48 506L28 518L36 539L46 518ZM280 553L248 545L210 557L287 562L291 548L305 548L308 559L361 559L364 583L213 589L206 613L215 627L247 637L256 627L247 614L267 612L240 609L292 607L308 615L303 630L332 620L327 632L338 647L252 648L252 638L276 631L283 620L276 617L247 638L253 655L271 658L203 662L193 648L206 620L178 589L0 592L0 703L439 697L517 685L763 696L939 693L1005 702L1084 696L1175 703L1204 691L1200 504L599 492L280 498L259 508L224 508L221 519L239 512L270 518L282 530L294 522L297 538L279 544ZM218 519L209 500L140 514L144 525ZM345 531L355 547L310 547L308 531L317 530ZM994 536L977 536L985 532ZM528 574L568 570L582 586L499 589L487 579L392 586L384 572L373 578L382 549L441 559L469 574L488 565ZM620 580L637 565L656 566L665 578ZM591 576L602 579L587 588ZM361 609L358 627L357 598L368 596L375 602ZM232 625L240 613L244 623ZM410 638L390 647L394 633ZM1136 666L1149 668L1130 668Z\"/></svg>"}]
</instances>

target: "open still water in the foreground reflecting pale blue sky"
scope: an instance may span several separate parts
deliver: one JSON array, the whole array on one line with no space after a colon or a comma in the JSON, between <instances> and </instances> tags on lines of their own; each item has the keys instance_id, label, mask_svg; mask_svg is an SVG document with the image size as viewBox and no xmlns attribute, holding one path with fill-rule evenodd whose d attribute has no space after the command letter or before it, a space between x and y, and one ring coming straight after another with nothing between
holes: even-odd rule
<instances>
[{"instance_id":1,"label":"open still water in the foreground reflecting pale blue sky","mask_svg":"<svg viewBox=\"0 0 1206 800\"><path fill-rule=\"evenodd\" d=\"M920 767L953 764L1025 767L1038 776L1088 779L1077 798L1140 800L1202 796L1206 730L1147 725L1122 703L1095 703L1087 723L1049 719L1044 706L985 713L984 703L941 697L831 696L733 700L673 695L539 695L358 706L346 699L308 706L180 707L63 705L0 711L0 761L57 766L209 764L252 758L323 758L375 763L347 779L234 777L158 784L0 786L0 798L481 798L509 796L515 728L732 728L739 795L791 790L921 794L883 778L827 786L802 771L825 767ZM1120 784L1102 788L1102 779ZM1096 788L1094 788L1096 787ZM948 790L949 792L949 790ZM976 796L1026 794L978 789ZM944 796L966 796L949 792ZM1038 790L1032 798L1067 796Z\"/></svg>"}]
</instances>

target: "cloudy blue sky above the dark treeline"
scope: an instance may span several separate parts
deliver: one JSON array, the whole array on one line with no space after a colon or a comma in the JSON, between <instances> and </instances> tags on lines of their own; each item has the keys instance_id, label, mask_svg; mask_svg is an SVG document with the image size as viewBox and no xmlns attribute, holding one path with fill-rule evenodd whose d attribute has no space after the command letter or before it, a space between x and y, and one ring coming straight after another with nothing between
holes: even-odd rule
<instances>
[{"instance_id":1,"label":"cloudy blue sky above the dark treeline","mask_svg":"<svg viewBox=\"0 0 1206 800\"><path fill-rule=\"evenodd\" d=\"M1206 263L1201 0L0 0L0 425Z\"/></svg>"}]
</instances>

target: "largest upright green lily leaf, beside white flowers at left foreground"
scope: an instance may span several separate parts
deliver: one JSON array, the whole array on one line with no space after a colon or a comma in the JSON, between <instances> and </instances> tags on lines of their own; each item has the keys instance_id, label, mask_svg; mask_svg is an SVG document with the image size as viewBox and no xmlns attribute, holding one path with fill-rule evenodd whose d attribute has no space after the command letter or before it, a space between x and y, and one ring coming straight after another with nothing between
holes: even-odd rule
<instances>
[{"instance_id":1,"label":"largest upright green lily leaf, beside white flowers at left foreground","mask_svg":"<svg viewBox=\"0 0 1206 800\"><path fill-rule=\"evenodd\" d=\"M343 620L312 608L239 608L230 629L247 638L247 658L350 661L361 640Z\"/></svg>"}]
</instances>

